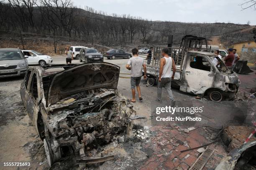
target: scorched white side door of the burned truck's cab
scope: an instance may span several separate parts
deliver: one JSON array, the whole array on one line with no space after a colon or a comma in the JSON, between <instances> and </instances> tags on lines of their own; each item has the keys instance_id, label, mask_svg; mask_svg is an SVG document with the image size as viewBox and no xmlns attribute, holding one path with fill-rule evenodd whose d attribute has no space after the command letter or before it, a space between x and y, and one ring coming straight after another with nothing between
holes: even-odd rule
<instances>
[{"instance_id":1,"label":"scorched white side door of the burned truck's cab","mask_svg":"<svg viewBox=\"0 0 256 170\"><path fill-rule=\"evenodd\" d=\"M187 53L180 90L201 95L212 87L215 80L215 67L205 55Z\"/></svg>"}]
</instances>

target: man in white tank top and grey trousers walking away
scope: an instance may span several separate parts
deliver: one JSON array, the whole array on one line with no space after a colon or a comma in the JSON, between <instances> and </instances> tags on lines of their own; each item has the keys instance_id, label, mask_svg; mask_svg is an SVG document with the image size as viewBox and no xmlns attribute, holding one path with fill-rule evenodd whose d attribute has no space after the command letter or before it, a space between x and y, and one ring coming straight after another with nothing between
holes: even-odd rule
<instances>
[{"instance_id":1,"label":"man in white tank top and grey trousers walking away","mask_svg":"<svg viewBox=\"0 0 256 170\"><path fill-rule=\"evenodd\" d=\"M172 79L174 79L176 67L175 67L173 58L169 57L168 55L168 48L164 48L162 50L162 56L163 57L161 57L160 59L160 70L159 70L159 79L158 79L159 82L157 85L157 100L158 102L162 103L161 95L162 95L162 87L164 86L171 100L171 106L174 107L176 100L174 100L174 97L172 95L171 82L172 82Z\"/></svg>"}]
</instances>

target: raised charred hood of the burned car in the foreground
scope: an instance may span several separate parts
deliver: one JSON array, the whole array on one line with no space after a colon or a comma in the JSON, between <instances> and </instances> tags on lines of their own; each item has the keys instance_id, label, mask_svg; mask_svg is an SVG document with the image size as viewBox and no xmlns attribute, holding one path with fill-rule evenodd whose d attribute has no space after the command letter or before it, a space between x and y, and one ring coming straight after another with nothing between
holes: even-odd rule
<instances>
[{"instance_id":1,"label":"raised charred hood of the burned car in the foreground","mask_svg":"<svg viewBox=\"0 0 256 170\"><path fill-rule=\"evenodd\" d=\"M89 62L58 72L51 80L47 105L70 95L97 88L116 89L120 67L107 62Z\"/></svg>"}]
</instances>

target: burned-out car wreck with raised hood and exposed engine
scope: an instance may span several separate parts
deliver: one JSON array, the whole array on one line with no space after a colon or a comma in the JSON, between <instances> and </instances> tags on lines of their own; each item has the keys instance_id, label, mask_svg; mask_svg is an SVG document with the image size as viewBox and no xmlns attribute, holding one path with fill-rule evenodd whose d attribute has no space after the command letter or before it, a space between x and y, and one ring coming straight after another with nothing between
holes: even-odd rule
<instances>
[{"instance_id":1,"label":"burned-out car wreck with raised hood and exposed engine","mask_svg":"<svg viewBox=\"0 0 256 170\"><path fill-rule=\"evenodd\" d=\"M95 150L127 133L133 106L118 95L120 67L105 62L30 67L20 95L46 151L49 166L113 159ZM92 158L98 156L98 158Z\"/></svg>"}]
</instances>

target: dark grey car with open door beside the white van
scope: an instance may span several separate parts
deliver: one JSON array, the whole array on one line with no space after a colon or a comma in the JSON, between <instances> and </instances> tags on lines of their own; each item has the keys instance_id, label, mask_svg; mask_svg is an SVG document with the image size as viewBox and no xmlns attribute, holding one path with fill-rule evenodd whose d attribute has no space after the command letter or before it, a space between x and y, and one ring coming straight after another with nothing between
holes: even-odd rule
<instances>
[{"instance_id":1,"label":"dark grey car with open door beside the white van","mask_svg":"<svg viewBox=\"0 0 256 170\"><path fill-rule=\"evenodd\" d=\"M103 55L94 48L81 48L79 53L80 62L102 61Z\"/></svg>"}]
</instances>

